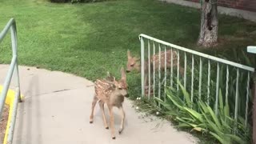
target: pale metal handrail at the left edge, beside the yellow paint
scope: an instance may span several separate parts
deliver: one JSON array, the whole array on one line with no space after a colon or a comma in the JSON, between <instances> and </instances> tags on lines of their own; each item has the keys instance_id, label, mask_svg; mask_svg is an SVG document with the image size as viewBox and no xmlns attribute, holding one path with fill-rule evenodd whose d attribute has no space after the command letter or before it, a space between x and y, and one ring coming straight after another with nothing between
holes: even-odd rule
<instances>
[{"instance_id":1,"label":"pale metal handrail at the left edge, beside the yellow paint","mask_svg":"<svg viewBox=\"0 0 256 144\"><path fill-rule=\"evenodd\" d=\"M17 52L17 27L14 18L11 18L10 21L6 24L5 28L0 33L0 44L3 38L6 37L6 34L10 30L11 34L11 43L12 43L12 59L10 62L10 68L8 70L5 82L3 84L2 93L0 95L0 118L2 117L2 110L6 102L6 95L10 87L11 78L14 75L15 87L16 87L16 94L14 95L14 105L13 111L11 114L10 119L10 127L7 131L7 143L12 143L13 135L14 135L14 126L15 126L15 119L17 115L17 107L18 102L21 102L21 94L20 94L20 84L19 84L19 75L18 75L18 52Z\"/></svg>"}]
</instances>

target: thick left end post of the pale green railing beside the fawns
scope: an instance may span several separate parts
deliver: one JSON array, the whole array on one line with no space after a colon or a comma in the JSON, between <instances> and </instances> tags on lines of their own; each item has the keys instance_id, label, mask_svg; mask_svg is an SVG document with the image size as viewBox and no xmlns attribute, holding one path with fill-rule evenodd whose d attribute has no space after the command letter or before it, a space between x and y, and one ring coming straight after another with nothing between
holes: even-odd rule
<instances>
[{"instance_id":1,"label":"thick left end post of the pale green railing beside the fawns","mask_svg":"<svg viewBox=\"0 0 256 144\"><path fill-rule=\"evenodd\" d=\"M145 68L144 68L144 39L141 37L140 38L141 40L141 63L142 63L142 66L141 66L141 73L142 73L142 97L144 96L145 94L145 81L144 81L144 77L145 77Z\"/></svg>"}]
</instances>

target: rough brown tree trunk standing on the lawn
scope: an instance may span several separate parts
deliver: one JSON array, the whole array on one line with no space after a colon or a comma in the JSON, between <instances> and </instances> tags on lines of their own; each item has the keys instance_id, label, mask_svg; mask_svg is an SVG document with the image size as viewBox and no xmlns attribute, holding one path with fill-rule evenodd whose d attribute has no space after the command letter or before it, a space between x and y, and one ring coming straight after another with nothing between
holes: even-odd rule
<instances>
[{"instance_id":1,"label":"rough brown tree trunk standing on the lawn","mask_svg":"<svg viewBox=\"0 0 256 144\"><path fill-rule=\"evenodd\" d=\"M217 0L204 0L201 15L201 30L198 38L199 46L216 46L218 41Z\"/></svg>"}]
</instances>

